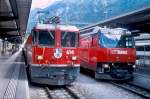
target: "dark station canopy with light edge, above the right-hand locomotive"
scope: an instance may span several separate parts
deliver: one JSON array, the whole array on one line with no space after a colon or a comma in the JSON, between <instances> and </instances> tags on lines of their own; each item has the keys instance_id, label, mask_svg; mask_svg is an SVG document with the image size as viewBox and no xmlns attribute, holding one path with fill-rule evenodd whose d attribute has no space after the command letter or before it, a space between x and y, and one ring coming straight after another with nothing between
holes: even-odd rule
<instances>
[{"instance_id":1,"label":"dark station canopy with light edge, above the right-hand locomotive","mask_svg":"<svg viewBox=\"0 0 150 99\"><path fill-rule=\"evenodd\" d=\"M127 28L135 36L150 33L150 6L97 22L84 29L94 26Z\"/></svg>"}]
</instances>

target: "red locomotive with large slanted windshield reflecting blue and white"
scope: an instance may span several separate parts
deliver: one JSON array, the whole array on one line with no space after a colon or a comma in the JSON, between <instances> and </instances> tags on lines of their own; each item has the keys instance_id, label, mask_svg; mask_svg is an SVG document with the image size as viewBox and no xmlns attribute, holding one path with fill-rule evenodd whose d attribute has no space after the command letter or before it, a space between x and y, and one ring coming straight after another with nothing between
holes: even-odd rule
<instances>
[{"instance_id":1,"label":"red locomotive with large slanted windshield reflecting blue and white","mask_svg":"<svg viewBox=\"0 0 150 99\"><path fill-rule=\"evenodd\" d=\"M131 32L98 26L80 30L81 67L95 72L97 79L133 78L136 50Z\"/></svg>"}]
</instances>

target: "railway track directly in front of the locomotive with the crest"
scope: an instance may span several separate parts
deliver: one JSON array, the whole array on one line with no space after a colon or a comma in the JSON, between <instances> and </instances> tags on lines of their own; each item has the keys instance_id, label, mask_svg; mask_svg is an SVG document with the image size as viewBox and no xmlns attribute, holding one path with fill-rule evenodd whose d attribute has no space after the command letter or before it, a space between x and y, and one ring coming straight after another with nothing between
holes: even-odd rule
<instances>
[{"instance_id":1,"label":"railway track directly in front of the locomotive with the crest","mask_svg":"<svg viewBox=\"0 0 150 99\"><path fill-rule=\"evenodd\" d=\"M50 99L85 99L74 87L45 87L45 91Z\"/></svg>"}]
</instances>

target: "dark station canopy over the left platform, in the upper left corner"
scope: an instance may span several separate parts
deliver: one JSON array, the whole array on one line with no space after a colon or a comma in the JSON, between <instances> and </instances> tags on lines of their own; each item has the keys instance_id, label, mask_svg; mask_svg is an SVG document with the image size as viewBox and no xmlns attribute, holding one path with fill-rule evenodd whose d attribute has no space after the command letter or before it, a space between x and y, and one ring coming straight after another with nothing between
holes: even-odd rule
<instances>
[{"instance_id":1,"label":"dark station canopy over the left platform, in the upper left corner","mask_svg":"<svg viewBox=\"0 0 150 99\"><path fill-rule=\"evenodd\" d=\"M1 39L21 42L21 35L27 28L31 2L32 0L0 0Z\"/></svg>"}]
</instances>

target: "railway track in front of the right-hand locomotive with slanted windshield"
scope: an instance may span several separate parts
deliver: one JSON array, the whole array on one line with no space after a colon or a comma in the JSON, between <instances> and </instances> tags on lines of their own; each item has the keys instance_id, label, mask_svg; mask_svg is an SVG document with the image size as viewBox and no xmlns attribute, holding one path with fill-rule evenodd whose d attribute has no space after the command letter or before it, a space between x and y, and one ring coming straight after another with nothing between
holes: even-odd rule
<instances>
[{"instance_id":1,"label":"railway track in front of the right-hand locomotive with slanted windshield","mask_svg":"<svg viewBox=\"0 0 150 99\"><path fill-rule=\"evenodd\" d=\"M150 90L144 89L132 83L116 83L116 82L111 82L111 83L125 90L131 91L137 95L140 95L141 97L150 99Z\"/></svg>"}]
</instances>

